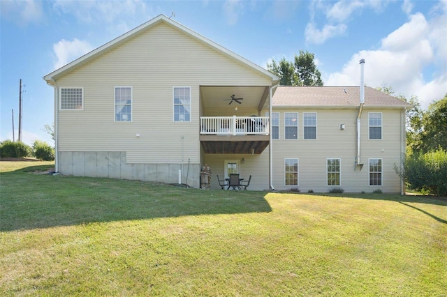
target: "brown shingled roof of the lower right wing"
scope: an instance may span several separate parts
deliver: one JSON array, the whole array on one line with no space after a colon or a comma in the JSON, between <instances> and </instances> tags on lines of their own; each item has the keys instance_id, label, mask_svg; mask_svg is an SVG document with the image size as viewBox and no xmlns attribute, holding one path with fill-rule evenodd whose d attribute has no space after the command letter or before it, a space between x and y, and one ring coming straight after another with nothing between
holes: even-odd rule
<instances>
[{"instance_id":1,"label":"brown shingled roof of the lower right wing","mask_svg":"<svg viewBox=\"0 0 447 297\"><path fill-rule=\"evenodd\" d=\"M273 107L358 107L360 86L278 86ZM365 86L364 107L413 107L413 105Z\"/></svg>"}]
</instances>

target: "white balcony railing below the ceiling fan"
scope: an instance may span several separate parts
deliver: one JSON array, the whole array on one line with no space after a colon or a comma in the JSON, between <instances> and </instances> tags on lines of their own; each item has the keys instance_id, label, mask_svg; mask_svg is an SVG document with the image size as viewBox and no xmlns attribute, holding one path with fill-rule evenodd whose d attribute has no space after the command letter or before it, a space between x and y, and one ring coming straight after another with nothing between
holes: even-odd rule
<instances>
[{"instance_id":1,"label":"white balcony railing below the ceiling fan","mask_svg":"<svg viewBox=\"0 0 447 297\"><path fill-rule=\"evenodd\" d=\"M268 116L200 116L200 134L268 135Z\"/></svg>"}]
</instances>

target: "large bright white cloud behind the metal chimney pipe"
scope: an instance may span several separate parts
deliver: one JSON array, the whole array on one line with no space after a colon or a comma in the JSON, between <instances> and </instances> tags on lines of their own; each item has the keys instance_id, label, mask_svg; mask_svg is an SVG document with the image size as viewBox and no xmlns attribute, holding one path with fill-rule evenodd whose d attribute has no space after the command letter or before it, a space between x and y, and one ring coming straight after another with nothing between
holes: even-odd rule
<instances>
[{"instance_id":1,"label":"large bright white cloud behind the metal chimney pipe","mask_svg":"<svg viewBox=\"0 0 447 297\"><path fill-rule=\"evenodd\" d=\"M379 50L353 54L339 73L331 73L324 79L325 84L360 84L358 61L365 59L365 84L373 88L386 84L397 95L417 96L421 106L427 108L430 102L444 98L447 93L446 43L439 40L439 31L443 29L437 28L437 24L427 22L420 13L411 15L409 22L383 38ZM438 65L439 61L444 64ZM424 77L427 67L441 70L434 77Z\"/></svg>"}]
</instances>

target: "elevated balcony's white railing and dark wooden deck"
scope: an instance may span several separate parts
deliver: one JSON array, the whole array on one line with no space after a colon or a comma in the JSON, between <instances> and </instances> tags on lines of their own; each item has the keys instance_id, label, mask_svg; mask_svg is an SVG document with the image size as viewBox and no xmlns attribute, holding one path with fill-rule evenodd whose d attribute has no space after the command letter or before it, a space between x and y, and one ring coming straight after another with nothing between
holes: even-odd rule
<instances>
[{"instance_id":1,"label":"elevated balcony's white railing and dark wooden deck","mask_svg":"<svg viewBox=\"0 0 447 297\"><path fill-rule=\"evenodd\" d=\"M268 116L201 116L205 153L261 154L270 142Z\"/></svg>"}]
</instances>

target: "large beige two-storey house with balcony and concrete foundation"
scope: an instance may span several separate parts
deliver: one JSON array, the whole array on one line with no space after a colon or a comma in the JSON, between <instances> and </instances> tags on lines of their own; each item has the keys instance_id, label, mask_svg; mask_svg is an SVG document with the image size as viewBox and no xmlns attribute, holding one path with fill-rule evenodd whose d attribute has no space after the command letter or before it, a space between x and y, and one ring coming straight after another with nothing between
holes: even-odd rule
<instances>
[{"instance_id":1,"label":"large beige two-storey house with balcony and concrete foundation","mask_svg":"<svg viewBox=\"0 0 447 297\"><path fill-rule=\"evenodd\" d=\"M278 86L164 15L43 78L61 174L198 188L207 163L215 189L236 172L250 190L402 192L410 105L369 87Z\"/></svg>"}]
</instances>

